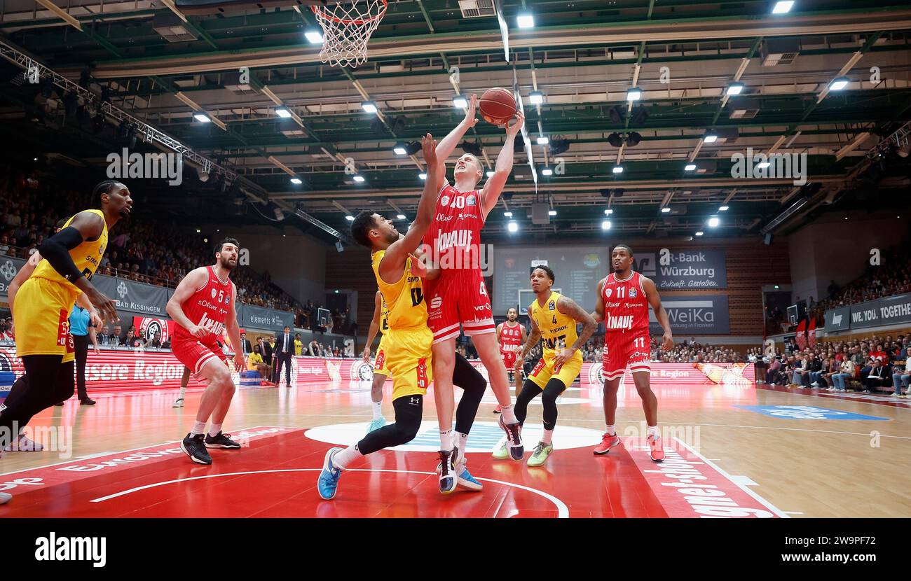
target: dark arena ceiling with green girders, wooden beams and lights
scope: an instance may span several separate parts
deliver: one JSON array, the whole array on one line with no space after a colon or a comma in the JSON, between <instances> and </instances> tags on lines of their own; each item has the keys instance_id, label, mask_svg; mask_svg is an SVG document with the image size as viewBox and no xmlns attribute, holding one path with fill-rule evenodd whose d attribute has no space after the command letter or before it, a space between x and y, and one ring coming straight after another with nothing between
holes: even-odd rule
<instances>
[{"instance_id":1,"label":"dark arena ceiling with green girders, wooden beams and lights","mask_svg":"<svg viewBox=\"0 0 911 581\"><path fill-rule=\"evenodd\" d=\"M390 0L370 59L353 69L322 64L305 37L315 27L306 5L207 4L5 0L0 123L48 156L104 166L123 147L115 117L93 127L104 93L230 170L227 180L213 170L204 184L161 186L157 203L197 197L207 208L222 201L216 206L270 217L299 209L301 226L325 240L333 239L327 231L346 232L345 215L360 209L413 219L423 163L394 146L426 132L442 138L464 117L454 97L489 87L522 96L529 142L488 220L494 236L510 220L548 240L591 236L607 218L613 231L637 235L758 236L797 201L805 203L779 229L827 205L863 207L872 189L906 203L907 150L900 140L886 147L911 119L911 6L896 0L796 0L774 15L767 0L467 3L482 12L492 5L506 35L496 15L466 15L457 0ZM534 27L517 26L524 13ZM82 79L97 98L79 101L86 111L70 120L67 91L44 97L24 83L14 52ZM830 90L843 76L846 87ZM726 95L735 83L741 94ZM639 100L628 100L630 88ZM529 102L532 91L543 103ZM363 110L368 100L378 114ZM200 112L214 122L195 120ZM717 141L706 143L711 134ZM466 140L490 164L503 135L482 121ZM537 144L541 136L548 145ZM154 150L139 137L138 148ZM732 177L732 155L747 148L805 153L808 185ZM532 224L533 203L556 216ZM721 217L719 228L706 228L711 216Z\"/></svg>"}]
</instances>

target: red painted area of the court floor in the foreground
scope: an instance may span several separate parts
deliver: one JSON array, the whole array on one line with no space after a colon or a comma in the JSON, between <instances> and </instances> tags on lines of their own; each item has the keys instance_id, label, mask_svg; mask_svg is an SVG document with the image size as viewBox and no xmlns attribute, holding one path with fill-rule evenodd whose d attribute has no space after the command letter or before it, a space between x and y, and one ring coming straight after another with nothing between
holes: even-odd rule
<instances>
[{"instance_id":1,"label":"red painted area of the court floor in the foreground","mask_svg":"<svg viewBox=\"0 0 911 581\"><path fill-rule=\"evenodd\" d=\"M558 450L545 467L468 454L482 492L436 490L436 455L384 451L344 472L323 501L315 484L329 444L306 430L259 426L245 447L192 464L179 443L5 474L0 517L772 517L771 505L676 440L654 464L644 440L607 456Z\"/></svg>"}]
</instances>

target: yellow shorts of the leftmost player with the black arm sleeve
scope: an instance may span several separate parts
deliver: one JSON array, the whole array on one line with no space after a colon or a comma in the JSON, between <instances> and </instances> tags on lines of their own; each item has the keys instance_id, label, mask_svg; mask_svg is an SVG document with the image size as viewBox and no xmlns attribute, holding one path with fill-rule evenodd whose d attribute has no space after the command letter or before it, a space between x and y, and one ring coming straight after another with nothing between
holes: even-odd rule
<instances>
[{"instance_id":1,"label":"yellow shorts of the leftmost player with the black arm sleeve","mask_svg":"<svg viewBox=\"0 0 911 581\"><path fill-rule=\"evenodd\" d=\"M77 297L56 282L31 278L15 295L15 355L63 355L63 362L76 360L69 312Z\"/></svg>"}]
</instances>

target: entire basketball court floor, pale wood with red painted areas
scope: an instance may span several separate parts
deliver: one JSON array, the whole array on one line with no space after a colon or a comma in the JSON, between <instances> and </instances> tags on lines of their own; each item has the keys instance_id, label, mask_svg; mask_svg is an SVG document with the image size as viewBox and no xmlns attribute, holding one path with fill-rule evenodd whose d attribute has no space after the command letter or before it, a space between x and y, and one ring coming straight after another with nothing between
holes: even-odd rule
<instances>
[{"instance_id":1,"label":"entire basketball court floor, pale wood with red painted areas","mask_svg":"<svg viewBox=\"0 0 911 581\"><path fill-rule=\"evenodd\" d=\"M468 442L481 492L443 496L433 397L415 441L354 464L331 502L316 493L325 451L362 437L369 384L337 382L239 390L225 432L240 451L192 464L179 440L200 391L171 408L176 390L93 394L33 420L55 450L6 453L0 490L14 495L0 517L405 516L405 517L860 517L911 515L911 404L889 396L760 385L656 385L668 459L645 445L639 396L619 392L623 446L591 454L604 431L599 387L570 388L558 404L548 464L495 461L501 432L486 393ZM387 382L385 395L391 393ZM526 459L541 426L529 406ZM392 421L392 405L384 401ZM239 499L243 499L242 502Z\"/></svg>"}]
</instances>

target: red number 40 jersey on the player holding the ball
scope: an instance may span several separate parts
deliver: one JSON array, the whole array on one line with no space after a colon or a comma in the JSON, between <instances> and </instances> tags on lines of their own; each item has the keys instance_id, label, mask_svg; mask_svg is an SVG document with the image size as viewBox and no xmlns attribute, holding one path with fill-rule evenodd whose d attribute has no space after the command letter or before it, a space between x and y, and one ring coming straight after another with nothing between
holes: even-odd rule
<instances>
[{"instance_id":1,"label":"red number 40 jersey on the player holding the ball","mask_svg":"<svg viewBox=\"0 0 911 581\"><path fill-rule=\"evenodd\" d=\"M434 222L424 236L433 264L443 270L441 278L447 271L481 270L482 228L481 192L460 192L446 184L436 199Z\"/></svg>"}]
</instances>

